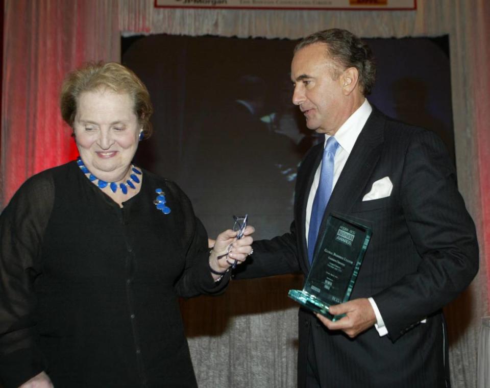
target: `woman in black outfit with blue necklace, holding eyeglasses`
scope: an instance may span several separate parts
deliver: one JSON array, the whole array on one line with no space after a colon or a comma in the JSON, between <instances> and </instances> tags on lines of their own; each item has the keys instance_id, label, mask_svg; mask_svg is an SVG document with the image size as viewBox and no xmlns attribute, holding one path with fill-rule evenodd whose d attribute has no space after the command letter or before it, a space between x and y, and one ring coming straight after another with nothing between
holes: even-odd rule
<instances>
[{"instance_id":1,"label":"woman in black outfit with blue necklace, holding eyeglasses","mask_svg":"<svg viewBox=\"0 0 490 388\"><path fill-rule=\"evenodd\" d=\"M177 297L222 292L253 228L210 253L181 189L131 164L152 105L126 67L69 74L61 113L80 158L30 178L0 217L1 383L197 386Z\"/></svg>"}]
</instances>

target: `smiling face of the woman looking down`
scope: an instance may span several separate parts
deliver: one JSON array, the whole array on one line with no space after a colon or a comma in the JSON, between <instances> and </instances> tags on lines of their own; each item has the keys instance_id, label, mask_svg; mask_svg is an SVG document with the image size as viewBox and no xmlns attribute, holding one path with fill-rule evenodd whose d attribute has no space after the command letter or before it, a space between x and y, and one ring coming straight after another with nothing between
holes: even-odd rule
<instances>
[{"instance_id":1,"label":"smiling face of the woman looking down","mask_svg":"<svg viewBox=\"0 0 490 388\"><path fill-rule=\"evenodd\" d=\"M129 94L82 92L73 128L80 157L93 175L110 182L125 178L141 131Z\"/></svg>"}]
</instances>

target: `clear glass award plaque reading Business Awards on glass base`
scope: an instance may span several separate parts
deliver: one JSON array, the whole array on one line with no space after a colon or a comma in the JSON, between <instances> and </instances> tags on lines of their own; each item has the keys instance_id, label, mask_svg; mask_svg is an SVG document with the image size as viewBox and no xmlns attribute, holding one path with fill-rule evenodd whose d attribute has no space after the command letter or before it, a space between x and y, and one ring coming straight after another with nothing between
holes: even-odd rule
<instances>
[{"instance_id":1,"label":"clear glass award plaque reading Business Awards on glass base","mask_svg":"<svg viewBox=\"0 0 490 388\"><path fill-rule=\"evenodd\" d=\"M290 289L288 296L332 321L340 319L343 315L332 316L329 306L349 300L370 237L371 228L340 214L330 214L305 286L302 290Z\"/></svg>"}]
</instances>

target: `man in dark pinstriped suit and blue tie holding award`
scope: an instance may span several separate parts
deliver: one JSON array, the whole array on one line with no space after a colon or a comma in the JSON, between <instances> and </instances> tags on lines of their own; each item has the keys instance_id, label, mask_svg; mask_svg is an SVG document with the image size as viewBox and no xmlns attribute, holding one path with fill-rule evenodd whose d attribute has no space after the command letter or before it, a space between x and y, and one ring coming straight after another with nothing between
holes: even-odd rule
<instances>
[{"instance_id":1,"label":"man in dark pinstriped suit and blue tie holding award","mask_svg":"<svg viewBox=\"0 0 490 388\"><path fill-rule=\"evenodd\" d=\"M367 102L372 54L348 31L300 42L291 78L293 103L325 143L299 167L290 232L254 243L237 278L307 274L327 216L361 220L373 234L350 301L330 308L346 317L332 322L300 308L298 386L449 386L442 307L477 273L478 246L442 141Z\"/></svg>"}]
</instances>

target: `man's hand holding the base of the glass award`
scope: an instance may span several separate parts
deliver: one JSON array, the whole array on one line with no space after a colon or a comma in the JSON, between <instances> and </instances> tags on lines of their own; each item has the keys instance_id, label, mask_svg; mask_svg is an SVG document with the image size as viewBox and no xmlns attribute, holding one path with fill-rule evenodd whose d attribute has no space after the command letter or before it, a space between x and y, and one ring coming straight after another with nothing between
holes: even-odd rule
<instances>
[{"instance_id":1,"label":"man's hand holding the base of the glass award","mask_svg":"<svg viewBox=\"0 0 490 388\"><path fill-rule=\"evenodd\" d=\"M346 314L346 317L332 322L321 314L316 317L330 330L342 330L349 337L354 338L364 330L376 323L376 314L367 298L354 299L346 303L330 306L329 312L336 316Z\"/></svg>"}]
</instances>

